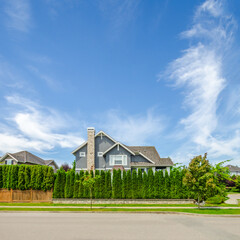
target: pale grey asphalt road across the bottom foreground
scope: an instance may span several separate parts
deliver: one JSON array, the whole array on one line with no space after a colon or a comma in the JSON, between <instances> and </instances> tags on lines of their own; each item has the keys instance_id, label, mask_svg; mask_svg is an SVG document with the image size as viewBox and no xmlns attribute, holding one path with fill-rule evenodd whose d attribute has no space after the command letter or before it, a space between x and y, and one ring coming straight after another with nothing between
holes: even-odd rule
<instances>
[{"instance_id":1,"label":"pale grey asphalt road across the bottom foreground","mask_svg":"<svg viewBox=\"0 0 240 240\"><path fill-rule=\"evenodd\" d=\"M239 240L240 218L134 213L0 213L1 240Z\"/></svg>"}]
</instances>

